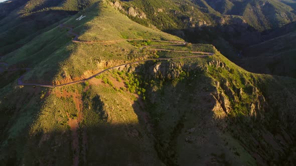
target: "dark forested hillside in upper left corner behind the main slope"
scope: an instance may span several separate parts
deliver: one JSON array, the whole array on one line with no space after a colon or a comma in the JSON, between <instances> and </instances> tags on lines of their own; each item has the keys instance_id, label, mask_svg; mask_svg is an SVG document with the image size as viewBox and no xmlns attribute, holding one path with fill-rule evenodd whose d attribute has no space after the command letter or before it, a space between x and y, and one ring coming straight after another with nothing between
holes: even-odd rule
<instances>
[{"instance_id":1,"label":"dark forested hillside in upper left corner behind the main slope","mask_svg":"<svg viewBox=\"0 0 296 166\"><path fill-rule=\"evenodd\" d=\"M14 51L97 0L10 0L0 3L0 56Z\"/></svg>"}]
</instances>

